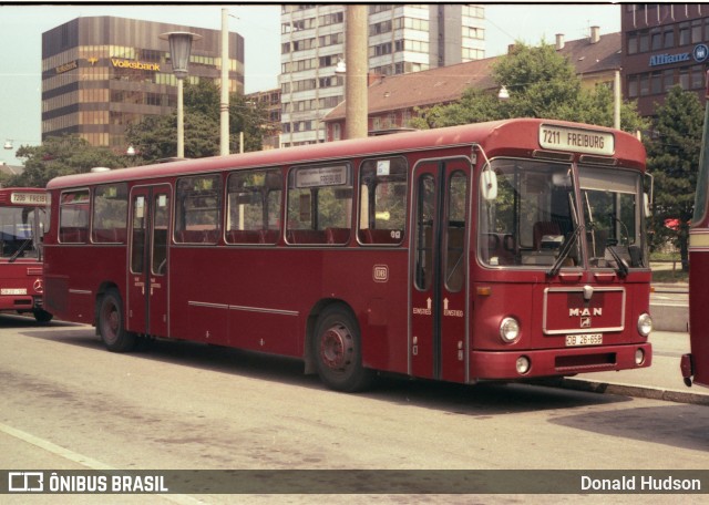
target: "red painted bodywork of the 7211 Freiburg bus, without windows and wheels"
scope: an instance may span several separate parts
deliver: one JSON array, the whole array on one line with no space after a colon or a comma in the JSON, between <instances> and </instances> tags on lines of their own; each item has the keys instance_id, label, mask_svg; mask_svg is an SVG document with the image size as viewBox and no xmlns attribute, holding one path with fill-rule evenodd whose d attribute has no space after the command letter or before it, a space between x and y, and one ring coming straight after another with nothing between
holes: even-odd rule
<instances>
[{"instance_id":1,"label":"red painted bodywork of the 7211 Freiburg bus, without windows and wheels","mask_svg":"<svg viewBox=\"0 0 709 505\"><path fill-rule=\"evenodd\" d=\"M419 296L412 287L413 226L407 225L404 241L393 247L360 244L356 226L349 241L337 247L292 245L281 229L275 246L229 245L224 237L216 246L171 241L167 274L160 280L167 300L165 330L155 336L307 361L308 336L317 315L338 301L356 316L362 336L362 363L376 370L472 383L481 379L649 367L651 346L636 330L638 317L649 310L649 269L631 271L624 279L585 270L562 271L549 280L543 270L493 269L477 258L477 197L470 195L480 194L477 182L484 159L475 156L473 146L481 145L490 158L531 158L538 150L542 123L501 121L72 175L51 181L48 189L52 194L52 215L59 215L62 190L120 181L129 181L129 189L169 184L174 195L176 177L186 174L223 174L226 178L235 169L278 167L286 178L291 167L321 161L348 159L358 167L362 159L377 155L399 155L408 159L411 187L414 171L428 169L427 159L460 161L455 162L456 169L469 176L469 202L474 203L469 208L470 225L461 245L467 275L462 292L443 291L440 307L427 307L428 296ZM623 140L616 141L614 158L624 167L643 171L641 144L625 133L614 134ZM463 163L465 159L471 162ZM357 182L353 187L357 202ZM408 216L412 214L412 200L413 197L407 198ZM95 324L97 300L112 286L123 300L129 300L126 329L144 332L145 321L133 317L140 307L130 298L142 280L129 274L125 244L60 244L56 230L45 244L48 310L62 319ZM573 330L578 331L580 318L569 317L569 307L583 309L578 300L586 285L594 287L594 303L603 308L602 317L592 318L590 330L603 331L605 340L600 346L565 347L565 330L573 324ZM428 333L431 312L436 311L441 321L438 349ZM500 339L502 312L522 321L521 340L515 344ZM643 363L635 362L639 349L645 351ZM527 355L533 363L524 377L515 370L520 355ZM438 371L433 364L436 360Z\"/></svg>"}]
</instances>

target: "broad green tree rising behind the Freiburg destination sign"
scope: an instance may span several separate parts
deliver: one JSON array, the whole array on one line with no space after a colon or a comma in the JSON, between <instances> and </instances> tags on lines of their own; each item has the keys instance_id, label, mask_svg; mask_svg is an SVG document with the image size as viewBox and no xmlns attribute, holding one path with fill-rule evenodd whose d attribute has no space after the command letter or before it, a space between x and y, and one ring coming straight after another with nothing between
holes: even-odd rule
<instances>
[{"instance_id":1,"label":"broad green tree rising behind the Freiburg destination sign","mask_svg":"<svg viewBox=\"0 0 709 505\"><path fill-rule=\"evenodd\" d=\"M497 87L510 99L500 101L487 91L465 90L460 101L419 111L414 127L441 127L510 117L545 117L613 126L613 93L607 86L582 86L574 65L553 45L530 47L517 42L492 69ZM647 128L634 103L621 105L620 127Z\"/></svg>"}]
</instances>

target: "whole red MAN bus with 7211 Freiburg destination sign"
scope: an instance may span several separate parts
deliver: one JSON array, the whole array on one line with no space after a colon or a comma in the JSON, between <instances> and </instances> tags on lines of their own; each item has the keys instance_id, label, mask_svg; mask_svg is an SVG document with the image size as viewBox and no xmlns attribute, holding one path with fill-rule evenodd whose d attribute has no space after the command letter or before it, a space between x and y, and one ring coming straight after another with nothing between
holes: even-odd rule
<instances>
[{"instance_id":1,"label":"whole red MAN bus with 7211 Freiburg destination sign","mask_svg":"<svg viewBox=\"0 0 709 505\"><path fill-rule=\"evenodd\" d=\"M510 120L59 177L47 306L343 391L649 367L644 171L626 133Z\"/></svg>"}]
</instances>

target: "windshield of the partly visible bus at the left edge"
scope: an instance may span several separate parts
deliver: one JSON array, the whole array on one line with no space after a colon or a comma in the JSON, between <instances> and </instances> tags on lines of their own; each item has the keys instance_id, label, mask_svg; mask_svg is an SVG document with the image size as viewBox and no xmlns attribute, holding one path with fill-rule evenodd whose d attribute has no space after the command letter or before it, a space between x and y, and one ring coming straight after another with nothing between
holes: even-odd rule
<instances>
[{"instance_id":1,"label":"windshield of the partly visible bus at the left edge","mask_svg":"<svg viewBox=\"0 0 709 505\"><path fill-rule=\"evenodd\" d=\"M39 213L39 215L35 215ZM47 212L37 207L0 207L0 255L2 258L38 258L34 223L45 229Z\"/></svg>"}]
</instances>

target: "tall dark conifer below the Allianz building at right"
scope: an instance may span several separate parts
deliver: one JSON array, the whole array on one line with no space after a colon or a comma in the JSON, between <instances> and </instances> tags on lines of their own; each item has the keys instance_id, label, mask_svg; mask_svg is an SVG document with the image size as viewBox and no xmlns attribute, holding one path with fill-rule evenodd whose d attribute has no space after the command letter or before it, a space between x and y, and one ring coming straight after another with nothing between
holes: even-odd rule
<instances>
[{"instance_id":1,"label":"tall dark conifer below the Allianz building at right","mask_svg":"<svg viewBox=\"0 0 709 505\"><path fill-rule=\"evenodd\" d=\"M703 111L696 93L675 86L662 105L656 104L657 122L645 142L647 166L655 178L654 244L671 240L689 269L689 220L695 204ZM676 229L665 226L677 219Z\"/></svg>"}]
</instances>

